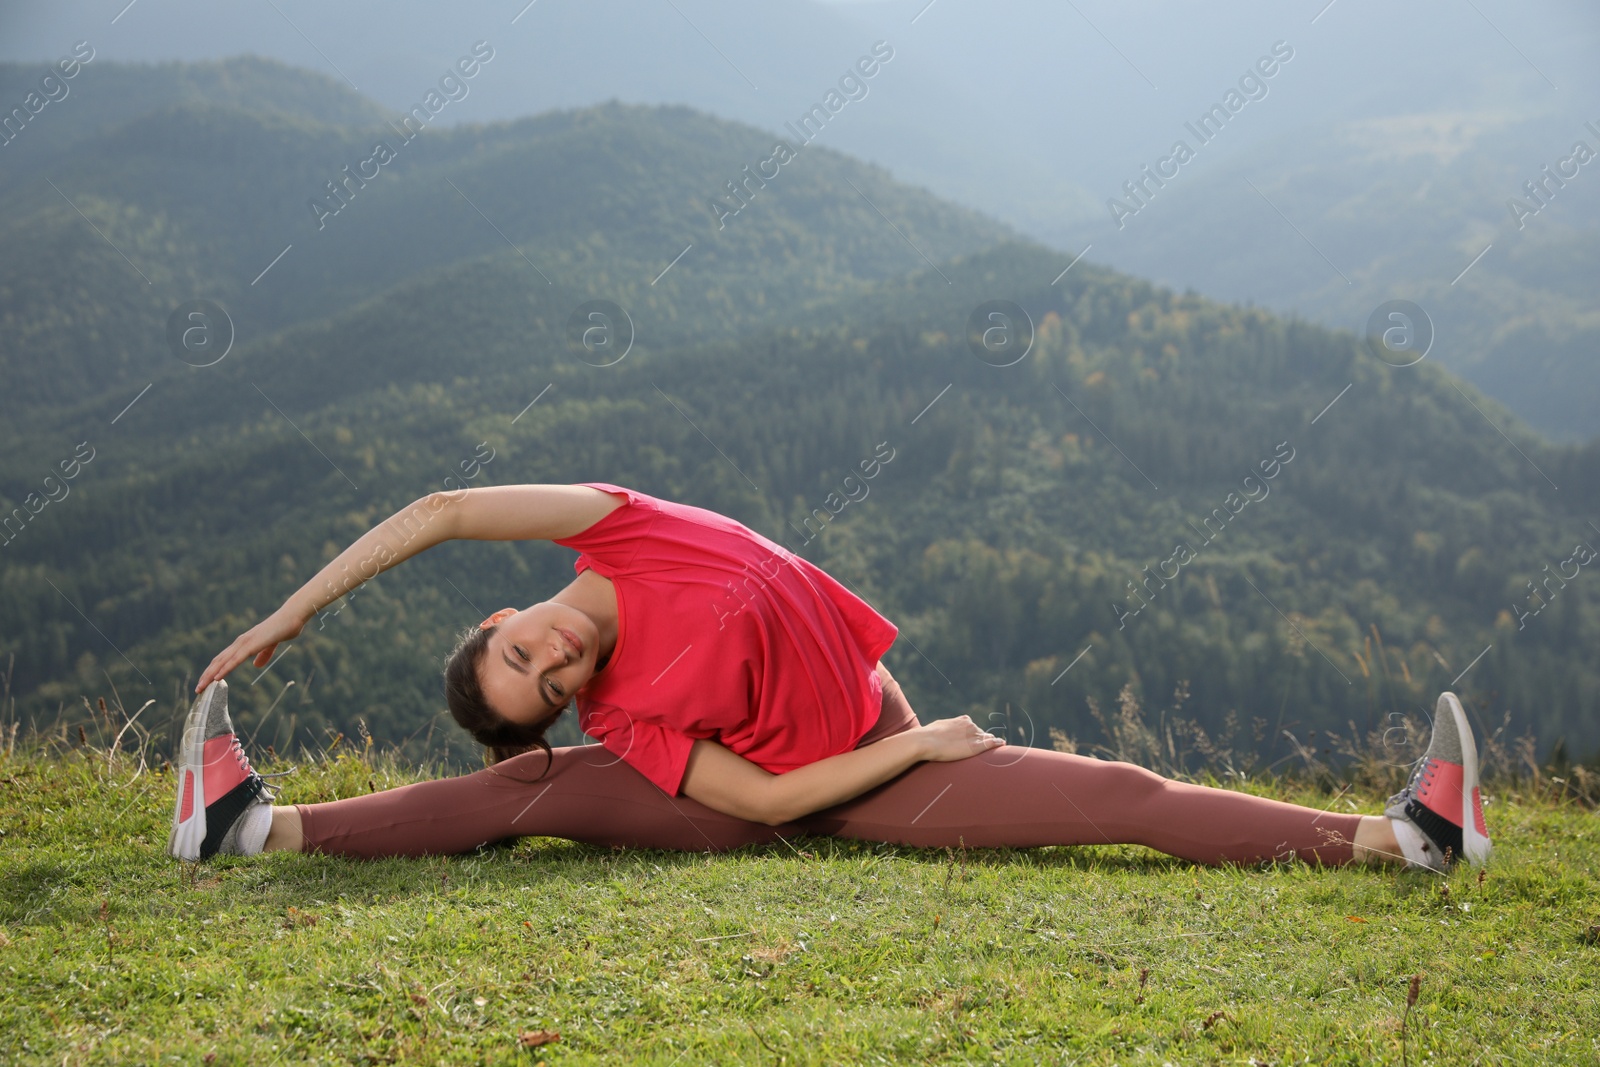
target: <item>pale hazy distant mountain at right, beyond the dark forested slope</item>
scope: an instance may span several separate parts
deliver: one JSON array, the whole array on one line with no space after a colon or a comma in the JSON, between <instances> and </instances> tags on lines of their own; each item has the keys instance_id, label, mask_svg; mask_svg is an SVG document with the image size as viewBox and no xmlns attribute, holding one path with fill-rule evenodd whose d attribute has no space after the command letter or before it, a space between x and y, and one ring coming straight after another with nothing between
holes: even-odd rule
<instances>
[{"instance_id":1,"label":"pale hazy distant mountain at right, beyond the dark forested slope","mask_svg":"<svg viewBox=\"0 0 1600 1067\"><path fill-rule=\"evenodd\" d=\"M1600 182L1573 160L1560 186L1541 171L1578 142L1600 155L1600 134L1565 114L1341 123L1152 186L1096 253L1355 331L1379 304L1413 301L1434 322L1430 358L1544 434L1582 440L1600 432ZM1523 189L1534 179L1542 200Z\"/></svg>"}]
</instances>

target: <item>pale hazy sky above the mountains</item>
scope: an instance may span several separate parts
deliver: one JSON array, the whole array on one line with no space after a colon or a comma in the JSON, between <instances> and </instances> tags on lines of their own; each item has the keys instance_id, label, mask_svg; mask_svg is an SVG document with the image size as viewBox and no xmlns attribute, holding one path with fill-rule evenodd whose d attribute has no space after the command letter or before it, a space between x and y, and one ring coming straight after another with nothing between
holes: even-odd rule
<instances>
[{"instance_id":1,"label":"pale hazy sky above the mountains","mask_svg":"<svg viewBox=\"0 0 1600 1067\"><path fill-rule=\"evenodd\" d=\"M474 40L506 62L445 122L514 118L608 98L685 102L779 130L874 40L896 51L888 106L837 123L837 147L914 179L973 166L1066 170L1099 202L1274 42L1286 106L1229 149L1349 117L1437 109L1600 117L1592 0L6 0L0 59L77 40L107 59L258 53L411 104ZM918 147L920 146L920 147Z\"/></svg>"}]
</instances>

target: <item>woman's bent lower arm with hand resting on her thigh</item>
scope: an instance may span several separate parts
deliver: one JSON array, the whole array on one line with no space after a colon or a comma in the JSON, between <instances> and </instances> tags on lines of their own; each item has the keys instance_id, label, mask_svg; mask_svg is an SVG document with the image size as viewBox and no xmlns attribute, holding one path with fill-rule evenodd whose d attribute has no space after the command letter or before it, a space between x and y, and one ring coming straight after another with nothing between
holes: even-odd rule
<instances>
[{"instance_id":1,"label":"woman's bent lower arm with hand resting on her thigh","mask_svg":"<svg viewBox=\"0 0 1600 1067\"><path fill-rule=\"evenodd\" d=\"M923 760L965 760L1003 744L962 715L773 774L715 741L696 741L680 790L723 814L781 825L854 800Z\"/></svg>"}]
</instances>

